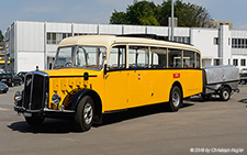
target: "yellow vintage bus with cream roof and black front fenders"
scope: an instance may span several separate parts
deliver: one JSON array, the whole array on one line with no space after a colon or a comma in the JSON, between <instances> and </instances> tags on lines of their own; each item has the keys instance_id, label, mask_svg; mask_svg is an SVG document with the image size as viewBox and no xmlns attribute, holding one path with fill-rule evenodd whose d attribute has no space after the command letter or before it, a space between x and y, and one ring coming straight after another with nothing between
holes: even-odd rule
<instances>
[{"instance_id":1,"label":"yellow vintage bus with cream roof and black front fenders","mask_svg":"<svg viewBox=\"0 0 247 155\"><path fill-rule=\"evenodd\" d=\"M75 119L88 131L102 114L156 103L178 111L202 92L200 51L188 44L138 35L83 35L59 43L52 70L25 76L14 110L31 125L45 118Z\"/></svg>"}]
</instances>

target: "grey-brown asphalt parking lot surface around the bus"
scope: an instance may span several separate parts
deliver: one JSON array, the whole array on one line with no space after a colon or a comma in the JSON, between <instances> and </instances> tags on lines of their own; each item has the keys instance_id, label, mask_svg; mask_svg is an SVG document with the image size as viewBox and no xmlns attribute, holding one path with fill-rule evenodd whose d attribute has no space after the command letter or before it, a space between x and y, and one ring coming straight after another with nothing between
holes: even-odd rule
<instances>
[{"instance_id":1,"label":"grey-brown asphalt parking lot surface around the bus","mask_svg":"<svg viewBox=\"0 0 247 155\"><path fill-rule=\"evenodd\" d=\"M102 125L85 133L76 132L70 120L46 119L31 128L13 111L14 92L22 88L0 95L0 154L247 153L246 86L227 102L195 96L173 113L150 106L105 114Z\"/></svg>"}]
</instances>

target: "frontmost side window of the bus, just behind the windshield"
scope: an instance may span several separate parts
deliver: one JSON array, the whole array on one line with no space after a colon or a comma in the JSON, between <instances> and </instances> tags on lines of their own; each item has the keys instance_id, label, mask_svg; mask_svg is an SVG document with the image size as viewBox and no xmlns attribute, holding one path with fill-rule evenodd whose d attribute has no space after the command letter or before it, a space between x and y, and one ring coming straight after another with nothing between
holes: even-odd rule
<instances>
[{"instance_id":1,"label":"frontmost side window of the bus, just behind the windshield","mask_svg":"<svg viewBox=\"0 0 247 155\"><path fill-rule=\"evenodd\" d=\"M112 47L108 67L109 69L126 67L126 46Z\"/></svg>"}]
</instances>

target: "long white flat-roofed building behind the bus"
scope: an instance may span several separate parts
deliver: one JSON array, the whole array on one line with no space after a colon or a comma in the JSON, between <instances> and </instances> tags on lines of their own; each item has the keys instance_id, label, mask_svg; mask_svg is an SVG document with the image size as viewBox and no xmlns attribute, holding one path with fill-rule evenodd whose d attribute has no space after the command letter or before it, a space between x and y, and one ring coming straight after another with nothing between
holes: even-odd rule
<instances>
[{"instance_id":1,"label":"long white flat-roofed building behind the bus","mask_svg":"<svg viewBox=\"0 0 247 155\"><path fill-rule=\"evenodd\" d=\"M168 26L114 24L55 23L15 21L5 31L5 54L13 73L48 69L58 43L68 36L87 34L157 34L170 37ZM247 31L220 29L175 27L175 40L190 43L202 53L203 66L236 65L247 68Z\"/></svg>"}]
</instances>

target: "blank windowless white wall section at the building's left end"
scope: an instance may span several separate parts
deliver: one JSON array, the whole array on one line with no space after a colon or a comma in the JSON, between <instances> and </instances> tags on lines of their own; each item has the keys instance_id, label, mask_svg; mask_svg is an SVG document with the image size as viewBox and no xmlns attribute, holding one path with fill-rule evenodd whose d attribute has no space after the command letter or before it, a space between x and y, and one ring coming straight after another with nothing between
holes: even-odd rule
<instances>
[{"instance_id":1,"label":"blank windowless white wall section at the building's left end","mask_svg":"<svg viewBox=\"0 0 247 155\"><path fill-rule=\"evenodd\" d=\"M16 22L16 70L44 69L44 23ZM15 58L15 59L16 59Z\"/></svg>"}]
</instances>

